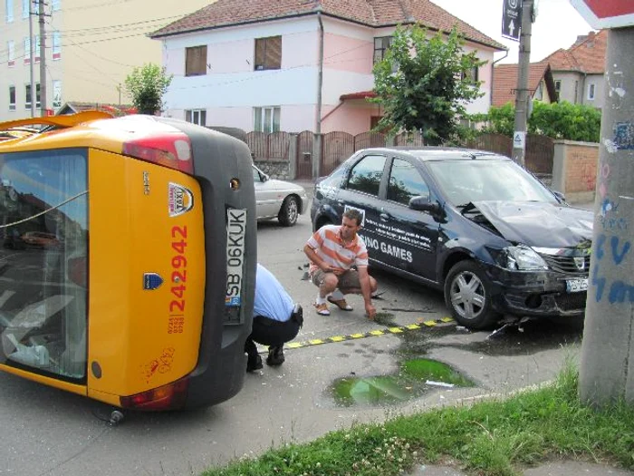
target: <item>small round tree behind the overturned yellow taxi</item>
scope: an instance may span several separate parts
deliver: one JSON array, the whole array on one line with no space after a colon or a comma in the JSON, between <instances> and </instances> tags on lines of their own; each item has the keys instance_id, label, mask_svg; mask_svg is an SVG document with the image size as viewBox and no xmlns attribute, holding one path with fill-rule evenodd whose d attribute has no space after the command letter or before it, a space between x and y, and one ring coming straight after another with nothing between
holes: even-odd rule
<instances>
[{"instance_id":1,"label":"small round tree behind the overturned yellow taxi","mask_svg":"<svg viewBox=\"0 0 634 476\"><path fill-rule=\"evenodd\" d=\"M125 85L140 114L154 115L162 110L163 94L168 91L172 77L158 64L147 63L132 69L132 73L126 77Z\"/></svg>"}]
</instances>

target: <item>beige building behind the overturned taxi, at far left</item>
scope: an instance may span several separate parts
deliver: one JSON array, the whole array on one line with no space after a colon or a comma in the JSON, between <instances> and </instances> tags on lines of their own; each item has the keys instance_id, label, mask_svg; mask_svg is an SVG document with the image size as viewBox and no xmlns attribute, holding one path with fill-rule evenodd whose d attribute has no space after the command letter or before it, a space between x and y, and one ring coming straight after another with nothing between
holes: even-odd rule
<instances>
[{"instance_id":1,"label":"beige building behind the overturned taxi, at far left","mask_svg":"<svg viewBox=\"0 0 634 476\"><path fill-rule=\"evenodd\" d=\"M0 121L31 114L29 0L0 1ZM158 30L210 0L185 4L165 0L100 2L47 0L44 3L46 104L56 112L66 102L130 103L123 91L135 66L161 63ZM33 9L37 11L37 0ZM39 91L40 32L33 16L34 83ZM39 107L38 102L36 106Z\"/></svg>"}]
</instances>

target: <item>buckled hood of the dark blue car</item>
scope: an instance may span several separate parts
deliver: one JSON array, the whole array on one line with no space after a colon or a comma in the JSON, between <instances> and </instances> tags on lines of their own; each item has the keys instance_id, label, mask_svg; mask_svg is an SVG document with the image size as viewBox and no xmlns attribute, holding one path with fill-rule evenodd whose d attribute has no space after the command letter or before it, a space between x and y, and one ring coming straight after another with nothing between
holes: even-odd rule
<instances>
[{"instance_id":1,"label":"buckled hood of the dark blue car","mask_svg":"<svg viewBox=\"0 0 634 476\"><path fill-rule=\"evenodd\" d=\"M475 201L507 240L530 247L568 248L592 238L592 212L546 202Z\"/></svg>"}]
</instances>

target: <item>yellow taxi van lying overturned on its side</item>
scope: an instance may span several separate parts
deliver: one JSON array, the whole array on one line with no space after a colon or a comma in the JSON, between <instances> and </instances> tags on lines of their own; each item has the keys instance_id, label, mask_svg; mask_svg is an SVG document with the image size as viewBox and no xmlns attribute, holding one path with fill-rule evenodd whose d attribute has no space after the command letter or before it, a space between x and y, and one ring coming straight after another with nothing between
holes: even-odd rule
<instances>
[{"instance_id":1,"label":"yellow taxi van lying overturned on its side","mask_svg":"<svg viewBox=\"0 0 634 476\"><path fill-rule=\"evenodd\" d=\"M256 262L245 143L103 112L0 132L0 370L136 410L235 395Z\"/></svg>"}]
</instances>

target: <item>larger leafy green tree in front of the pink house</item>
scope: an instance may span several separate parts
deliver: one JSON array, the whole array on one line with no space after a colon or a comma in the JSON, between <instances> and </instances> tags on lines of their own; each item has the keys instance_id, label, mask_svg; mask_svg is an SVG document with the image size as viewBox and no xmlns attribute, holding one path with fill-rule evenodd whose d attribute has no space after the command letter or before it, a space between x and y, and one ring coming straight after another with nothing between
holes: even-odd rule
<instances>
[{"instance_id":1,"label":"larger leafy green tree in front of the pink house","mask_svg":"<svg viewBox=\"0 0 634 476\"><path fill-rule=\"evenodd\" d=\"M374 65L374 92L384 115L375 130L421 131L426 143L450 141L459 133L465 105L483 95L473 73L485 64L465 53L454 29L429 37L414 24L399 26L384 58Z\"/></svg>"}]
</instances>

